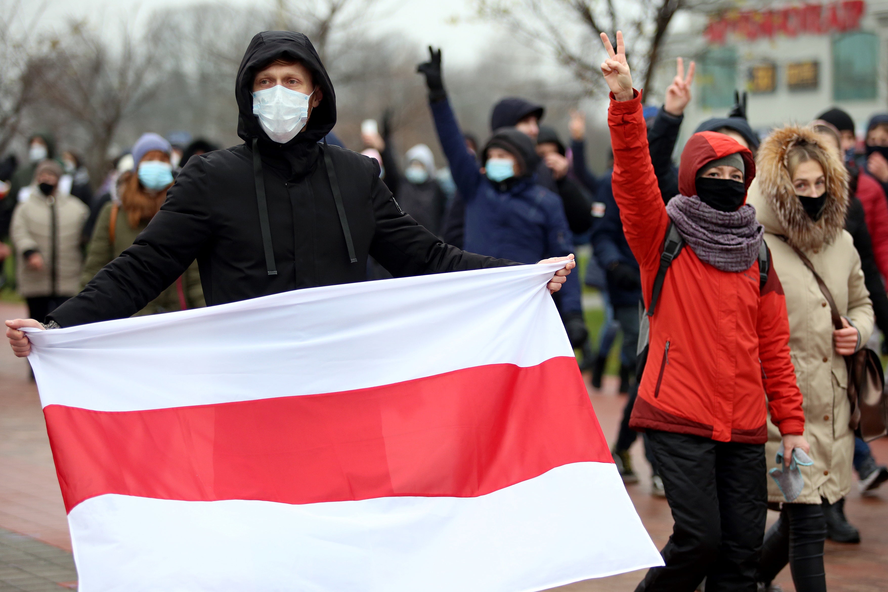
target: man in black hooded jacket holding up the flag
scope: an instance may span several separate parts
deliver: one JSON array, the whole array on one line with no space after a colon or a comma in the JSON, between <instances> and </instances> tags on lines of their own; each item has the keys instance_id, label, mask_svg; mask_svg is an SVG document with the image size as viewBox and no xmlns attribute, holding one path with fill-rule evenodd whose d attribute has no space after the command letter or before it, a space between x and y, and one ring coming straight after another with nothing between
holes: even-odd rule
<instances>
[{"instance_id":1,"label":"man in black hooded jacket holding up the flag","mask_svg":"<svg viewBox=\"0 0 888 592\"><path fill-rule=\"evenodd\" d=\"M276 64L295 65L297 73L269 81L265 71ZM298 72L311 80L300 82ZM290 83L304 84L307 122L281 144L254 114L253 93ZM376 161L318 144L336 123L336 96L306 36L289 31L254 36L235 93L244 143L189 160L132 247L52 312L49 327L129 317L194 258L208 305L366 280L370 255L398 277L512 264L441 242L400 211ZM557 272L551 290L560 288L573 266L569 261ZM27 336L17 329L40 325L16 320L7 326L13 350L28 355Z\"/></svg>"}]
</instances>

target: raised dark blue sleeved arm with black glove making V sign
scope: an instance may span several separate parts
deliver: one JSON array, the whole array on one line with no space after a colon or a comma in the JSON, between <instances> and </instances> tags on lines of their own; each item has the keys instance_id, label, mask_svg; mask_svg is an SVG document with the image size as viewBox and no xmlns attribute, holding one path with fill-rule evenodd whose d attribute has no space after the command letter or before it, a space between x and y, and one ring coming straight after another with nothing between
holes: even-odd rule
<instances>
[{"instance_id":1,"label":"raised dark blue sleeved arm with black glove making V sign","mask_svg":"<svg viewBox=\"0 0 888 592\"><path fill-rule=\"evenodd\" d=\"M425 83L429 87L429 107L432 109L438 141L450 165L450 174L459 192L463 194L464 201L472 201L479 185L484 181L483 175L479 170L478 161L465 146L463 132L459 129L459 123L456 122L456 116L447 98L447 91L444 90L441 78L441 51L434 51L430 47L429 53L431 59L416 67L416 71L425 75Z\"/></svg>"}]
</instances>

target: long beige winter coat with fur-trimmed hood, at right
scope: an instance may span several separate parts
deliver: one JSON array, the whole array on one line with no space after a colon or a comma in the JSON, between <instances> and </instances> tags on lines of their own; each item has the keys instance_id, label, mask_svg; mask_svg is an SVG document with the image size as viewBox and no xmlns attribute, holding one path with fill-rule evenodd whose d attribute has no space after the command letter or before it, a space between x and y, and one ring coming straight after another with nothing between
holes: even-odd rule
<instances>
[{"instance_id":1,"label":"long beige winter coat with fur-trimmed hood, at right","mask_svg":"<svg viewBox=\"0 0 888 592\"><path fill-rule=\"evenodd\" d=\"M826 162L829 198L823 216L814 223L805 213L786 171L784 154L790 144L810 142ZM749 187L748 202L765 226L774 270L786 294L789 313L789 349L796 367L798 388L804 397L805 438L811 445L811 467L802 467L805 488L797 503L834 503L851 491L854 434L848 427L851 406L845 393L844 358L833 345L829 304L813 273L805 267L790 244L795 244L826 283L840 314L860 331L866 343L873 331L873 308L863 283L860 257L851 234L844 230L847 181L844 164L807 128L775 130L759 148L757 178ZM768 421L765 446L768 470L780 445L780 432ZM772 478L768 500L785 501Z\"/></svg>"}]
</instances>

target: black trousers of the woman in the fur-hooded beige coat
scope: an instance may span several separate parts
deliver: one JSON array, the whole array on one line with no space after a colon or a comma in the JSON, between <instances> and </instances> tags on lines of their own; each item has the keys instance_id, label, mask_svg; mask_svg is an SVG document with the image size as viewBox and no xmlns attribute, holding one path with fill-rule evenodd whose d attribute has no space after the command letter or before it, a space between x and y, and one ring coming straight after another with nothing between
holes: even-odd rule
<instances>
[{"instance_id":1,"label":"black trousers of the woman in the fur-hooded beige coat","mask_svg":"<svg viewBox=\"0 0 888 592\"><path fill-rule=\"evenodd\" d=\"M819 503L784 503L780 519L765 534L757 580L770 584L789 563L797 592L826 592L826 538L827 521Z\"/></svg>"}]
</instances>

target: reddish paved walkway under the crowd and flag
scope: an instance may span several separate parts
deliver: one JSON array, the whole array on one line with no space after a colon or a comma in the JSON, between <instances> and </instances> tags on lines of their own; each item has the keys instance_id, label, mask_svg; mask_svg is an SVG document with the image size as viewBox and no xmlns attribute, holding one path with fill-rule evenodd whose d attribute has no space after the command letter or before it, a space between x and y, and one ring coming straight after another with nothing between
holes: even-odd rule
<instances>
[{"instance_id":1,"label":"reddish paved walkway under the crowd and flag","mask_svg":"<svg viewBox=\"0 0 888 592\"><path fill-rule=\"evenodd\" d=\"M24 307L0 303L0 320L23 315ZM602 429L608 438L614 438L625 401L616 394L616 381L607 381L603 391L591 393L591 399ZM878 440L874 451L877 460L888 462L888 438ZM630 497L654 543L662 548L672 528L669 506L647 493L650 476L641 447L634 446L632 454L641 482L630 485ZM846 512L860 528L863 542L827 542L830 592L888 589L888 485L876 497L852 493ZM776 514L769 512L769 524L775 518ZM28 362L12 356L4 341L0 343L0 592L75 587L70 549L65 508L36 387L30 381ZM630 592L643 575L624 573L556 589ZM794 590L788 569L777 581L787 592Z\"/></svg>"}]
</instances>

